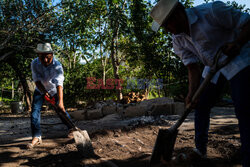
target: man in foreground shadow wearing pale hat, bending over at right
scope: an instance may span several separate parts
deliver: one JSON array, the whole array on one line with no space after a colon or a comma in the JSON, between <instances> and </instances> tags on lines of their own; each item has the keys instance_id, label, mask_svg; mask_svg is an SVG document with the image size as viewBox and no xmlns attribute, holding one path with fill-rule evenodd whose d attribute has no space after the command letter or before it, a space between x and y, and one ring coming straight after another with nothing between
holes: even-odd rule
<instances>
[{"instance_id":1,"label":"man in foreground shadow wearing pale hat, bending over at right","mask_svg":"<svg viewBox=\"0 0 250 167\"><path fill-rule=\"evenodd\" d=\"M223 62L232 60L219 70L201 95L195 111L194 151L206 156L210 109L214 106L226 80L231 84L235 113L239 120L243 166L250 166L250 16L225 3L216 1L185 9L178 0L160 0L151 11L152 29L160 27L172 33L174 52L188 69L191 102L200 84L198 63L205 65L204 78L219 48Z\"/></svg>"}]
</instances>

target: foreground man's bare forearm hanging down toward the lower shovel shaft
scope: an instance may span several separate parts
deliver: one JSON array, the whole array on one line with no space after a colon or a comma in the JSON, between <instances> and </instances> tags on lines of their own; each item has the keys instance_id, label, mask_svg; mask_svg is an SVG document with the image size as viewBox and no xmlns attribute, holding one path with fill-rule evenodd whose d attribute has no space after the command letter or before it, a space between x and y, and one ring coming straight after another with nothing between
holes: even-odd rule
<instances>
[{"instance_id":1,"label":"foreground man's bare forearm hanging down toward the lower shovel shaft","mask_svg":"<svg viewBox=\"0 0 250 167\"><path fill-rule=\"evenodd\" d=\"M200 85L200 79L201 79L201 71L200 66L197 63L189 64L187 65L188 69L188 81L189 81L189 87L188 87L188 95L185 99L186 105L188 105L194 93L198 89Z\"/></svg>"}]
</instances>

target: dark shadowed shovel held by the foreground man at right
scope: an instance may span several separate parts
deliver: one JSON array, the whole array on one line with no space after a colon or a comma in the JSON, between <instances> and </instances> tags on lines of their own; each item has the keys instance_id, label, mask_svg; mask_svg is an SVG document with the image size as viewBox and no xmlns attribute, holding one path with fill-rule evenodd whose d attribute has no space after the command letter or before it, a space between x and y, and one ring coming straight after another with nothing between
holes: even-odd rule
<instances>
[{"instance_id":1,"label":"dark shadowed shovel held by the foreground man at right","mask_svg":"<svg viewBox=\"0 0 250 167\"><path fill-rule=\"evenodd\" d=\"M204 91L207 88L210 80L213 78L214 74L222 67L224 67L232 58L228 58L223 64L218 65L218 60L222 50L219 49L215 55L214 65L212 66L210 72L205 77L204 81L201 83L194 96L192 97L191 103L186 107L185 112L180 117L180 119L169 129L159 129L158 136L154 145L153 153L150 159L150 166L160 163L163 161L170 161L172 158L172 152L174 150L174 144L178 134L178 128L184 122L188 114L192 111L195 101L197 101Z\"/></svg>"}]
</instances>

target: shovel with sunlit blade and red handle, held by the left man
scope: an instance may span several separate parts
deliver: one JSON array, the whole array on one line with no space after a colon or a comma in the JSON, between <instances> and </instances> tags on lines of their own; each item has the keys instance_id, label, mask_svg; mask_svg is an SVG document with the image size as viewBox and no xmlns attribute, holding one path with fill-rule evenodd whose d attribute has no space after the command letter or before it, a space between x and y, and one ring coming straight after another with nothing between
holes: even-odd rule
<instances>
[{"instance_id":1,"label":"shovel with sunlit blade and red handle, held by the left man","mask_svg":"<svg viewBox=\"0 0 250 167\"><path fill-rule=\"evenodd\" d=\"M69 129L73 130L74 140L79 152L85 154L85 156L93 155L94 150L91 144L91 140L89 138L88 132L86 130L81 130L75 126L75 124L70 120L67 116L66 112L62 111L55 102L55 98L49 98L48 96L44 96L45 100L48 101L53 108L55 109L58 116L61 120L66 124Z\"/></svg>"}]
</instances>

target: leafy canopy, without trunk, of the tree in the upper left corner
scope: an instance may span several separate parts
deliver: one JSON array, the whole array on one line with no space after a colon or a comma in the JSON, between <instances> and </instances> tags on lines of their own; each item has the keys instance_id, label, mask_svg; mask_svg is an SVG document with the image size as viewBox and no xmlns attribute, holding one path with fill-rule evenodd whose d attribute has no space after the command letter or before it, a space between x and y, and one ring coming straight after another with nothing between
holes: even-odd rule
<instances>
[{"instance_id":1,"label":"leafy canopy, without trunk, of the tree in the upper left corner","mask_svg":"<svg viewBox=\"0 0 250 167\"><path fill-rule=\"evenodd\" d=\"M0 1L1 57L13 51L28 57L31 49L55 29L56 13L48 1Z\"/></svg>"}]
</instances>

